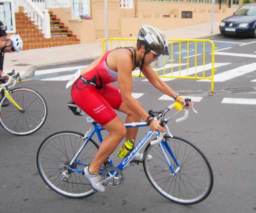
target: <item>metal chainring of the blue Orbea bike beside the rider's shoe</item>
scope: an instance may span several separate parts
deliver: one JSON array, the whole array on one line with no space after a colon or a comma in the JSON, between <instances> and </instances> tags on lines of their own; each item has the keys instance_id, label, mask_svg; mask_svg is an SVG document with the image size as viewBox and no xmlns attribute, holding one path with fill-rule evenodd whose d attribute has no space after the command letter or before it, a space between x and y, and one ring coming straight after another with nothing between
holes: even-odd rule
<instances>
[{"instance_id":1,"label":"metal chainring of the blue Orbea bike beside the rider's shoe","mask_svg":"<svg viewBox=\"0 0 256 213\"><path fill-rule=\"evenodd\" d=\"M116 167L105 167L102 171L102 179L110 178L108 182L105 184L108 187L120 187L125 181L125 176L123 175L122 171Z\"/></svg>"}]
</instances>

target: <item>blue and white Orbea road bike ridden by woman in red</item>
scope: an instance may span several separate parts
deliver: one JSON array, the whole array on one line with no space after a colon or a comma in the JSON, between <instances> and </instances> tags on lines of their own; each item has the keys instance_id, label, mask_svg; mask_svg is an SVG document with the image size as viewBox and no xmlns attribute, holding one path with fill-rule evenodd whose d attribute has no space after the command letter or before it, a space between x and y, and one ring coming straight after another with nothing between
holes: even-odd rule
<instances>
[{"instance_id":1,"label":"blue and white Orbea road bike ridden by woman in red","mask_svg":"<svg viewBox=\"0 0 256 213\"><path fill-rule=\"evenodd\" d=\"M186 99L186 104L189 101ZM76 104L68 105L75 115L85 114ZM213 173L207 158L189 141L172 136L166 125L183 108L180 107L172 117L164 118L166 112L173 107L178 108L178 103L171 104L160 112L149 111L151 115L161 119L166 133L149 130L117 167L109 157L100 169L104 185L113 188L121 186L124 182L122 171L138 164L133 161L133 157L148 144L143 155L144 171L149 182L162 196L180 204L195 204L209 196L213 186ZM176 121L185 120L188 112L185 109L184 116ZM92 139L93 135L96 133L101 143L101 131L104 128L90 117L87 119L92 121L93 126L85 134L74 131L56 132L41 143L37 153L37 167L44 182L55 192L70 198L82 198L96 193L82 176L82 170L90 164L99 149ZM146 126L145 122L125 124L126 128ZM156 138L152 140L153 135ZM152 156L149 161L148 155Z\"/></svg>"}]
</instances>

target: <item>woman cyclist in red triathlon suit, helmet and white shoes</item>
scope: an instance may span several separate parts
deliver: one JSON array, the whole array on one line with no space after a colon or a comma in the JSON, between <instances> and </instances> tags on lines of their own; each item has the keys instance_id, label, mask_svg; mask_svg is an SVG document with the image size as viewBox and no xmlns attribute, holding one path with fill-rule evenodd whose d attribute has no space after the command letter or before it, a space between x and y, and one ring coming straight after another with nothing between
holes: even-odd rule
<instances>
[{"instance_id":1,"label":"woman cyclist in red triathlon suit, helmet and white shoes","mask_svg":"<svg viewBox=\"0 0 256 213\"><path fill-rule=\"evenodd\" d=\"M180 103L185 103L164 81L157 77L150 63L160 55L169 55L168 43L163 32L149 25L142 25L137 38L137 47L125 47L106 52L85 68L73 83L73 101L101 124L108 132L99 151L83 174L94 190L104 192L99 169L113 153L120 141L137 135L137 128L126 129L114 109L127 114L125 123L140 122L142 118L151 130L164 131L160 121L156 121L143 109L142 104L131 96L132 71L139 66L148 81L161 92ZM119 88L110 84L117 81ZM191 103L192 104L192 103ZM134 156L134 161L142 161L143 154ZM148 159L149 160L149 159Z\"/></svg>"}]
</instances>

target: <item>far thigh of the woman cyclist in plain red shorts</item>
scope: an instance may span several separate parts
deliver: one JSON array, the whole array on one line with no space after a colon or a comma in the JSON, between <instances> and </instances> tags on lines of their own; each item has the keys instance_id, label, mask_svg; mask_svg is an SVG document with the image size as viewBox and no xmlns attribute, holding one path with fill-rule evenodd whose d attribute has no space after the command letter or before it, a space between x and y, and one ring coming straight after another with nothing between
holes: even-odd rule
<instances>
[{"instance_id":1,"label":"far thigh of the woman cyclist in plain red shorts","mask_svg":"<svg viewBox=\"0 0 256 213\"><path fill-rule=\"evenodd\" d=\"M102 96L108 101L108 103L113 107L113 109L119 109L122 104L122 97L120 90L117 86L108 83L103 88Z\"/></svg>"}]
</instances>

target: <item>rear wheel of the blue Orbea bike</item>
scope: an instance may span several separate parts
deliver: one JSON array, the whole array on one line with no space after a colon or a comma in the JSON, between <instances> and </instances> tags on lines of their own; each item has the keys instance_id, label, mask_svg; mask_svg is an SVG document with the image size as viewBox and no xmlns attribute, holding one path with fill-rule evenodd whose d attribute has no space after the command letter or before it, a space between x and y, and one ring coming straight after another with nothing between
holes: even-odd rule
<instances>
[{"instance_id":1,"label":"rear wheel of the blue Orbea bike","mask_svg":"<svg viewBox=\"0 0 256 213\"><path fill-rule=\"evenodd\" d=\"M62 180L61 173L73 159L75 153L84 143L83 134L74 131L61 131L49 135L41 143L37 152L37 167L41 178L56 193L69 198L83 198L96 193L87 179L78 172L71 172L67 182ZM95 141L90 139L77 160L90 164L99 150ZM56 158L56 159L55 159ZM73 168L85 166L73 163Z\"/></svg>"}]
</instances>

